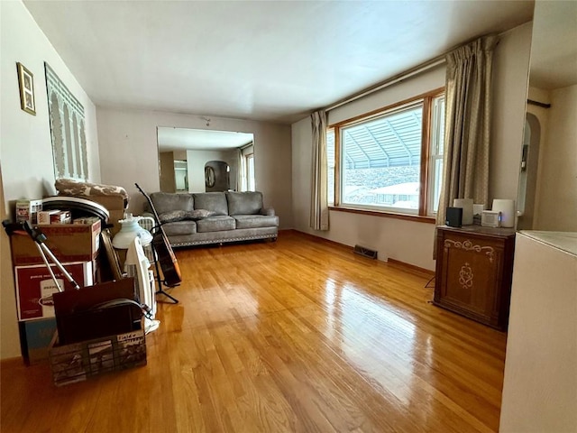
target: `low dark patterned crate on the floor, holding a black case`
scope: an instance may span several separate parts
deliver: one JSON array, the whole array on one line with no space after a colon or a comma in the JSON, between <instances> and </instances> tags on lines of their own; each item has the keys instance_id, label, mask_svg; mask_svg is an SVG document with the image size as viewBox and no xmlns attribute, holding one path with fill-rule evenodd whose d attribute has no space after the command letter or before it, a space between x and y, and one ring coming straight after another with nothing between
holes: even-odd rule
<instances>
[{"instance_id":1,"label":"low dark patterned crate on the floor, holding a black case","mask_svg":"<svg viewBox=\"0 0 577 433\"><path fill-rule=\"evenodd\" d=\"M57 386L86 381L99 374L146 365L146 337L142 329L49 349L52 379Z\"/></svg>"}]
</instances>

